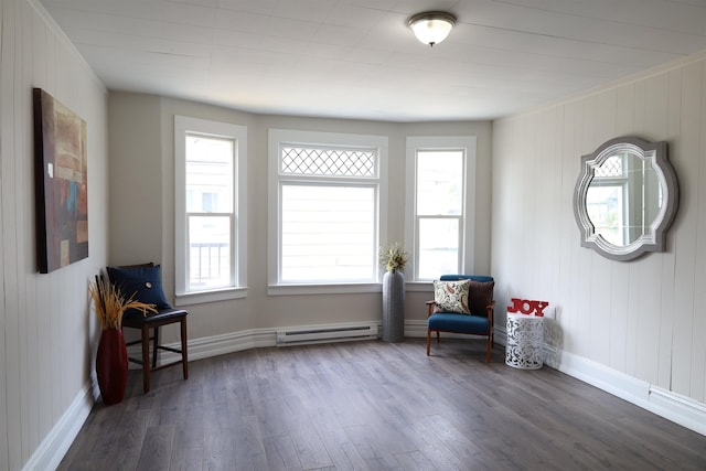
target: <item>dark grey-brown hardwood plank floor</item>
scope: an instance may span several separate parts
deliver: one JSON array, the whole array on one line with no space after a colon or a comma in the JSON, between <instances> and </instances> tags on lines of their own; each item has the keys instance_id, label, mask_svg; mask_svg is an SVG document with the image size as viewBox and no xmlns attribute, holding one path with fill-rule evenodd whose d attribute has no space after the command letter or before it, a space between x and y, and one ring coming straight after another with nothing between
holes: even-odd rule
<instances>
[{"instance_id":1,"label":"dark grey-brown hardwood plank floor","mask_svg":"<svg viewBox=\"0 0 706 471\"><path fill-rule=\"evenodd\" d=\"M60 470L706 470L706 437L483 341L250 350L96 404Z\"/></svg>"}]
</instances>

